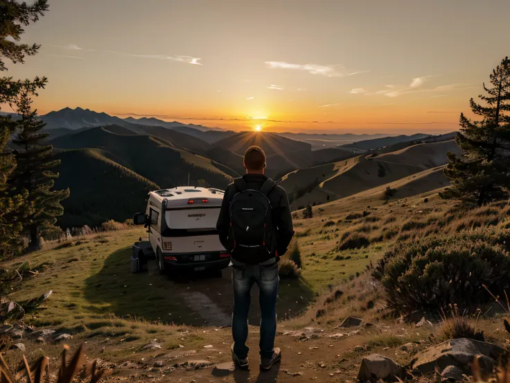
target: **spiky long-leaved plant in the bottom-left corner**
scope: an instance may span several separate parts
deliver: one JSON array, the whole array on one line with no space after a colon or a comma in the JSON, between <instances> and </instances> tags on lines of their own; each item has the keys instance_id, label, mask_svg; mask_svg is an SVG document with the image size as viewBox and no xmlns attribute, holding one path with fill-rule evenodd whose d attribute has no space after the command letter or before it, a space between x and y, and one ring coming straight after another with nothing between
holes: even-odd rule
<instances>
[{"instance_id":1,"label":"spiky long-leaved plant in the bottom-left corner","mask_svg":"<svg viewBox=\"0 0 510 383\"><path fill-rule=\"evenodd\" d=\"M67 364L67 353L69 346L64 346L62 350L62 364L58 371L57 381L55 383L71 383L83 364L85 364L85 353L83 352L83 345L76 350L69 364ZM21 370L17 375L13 375L6 361L0 355L0 383L17 383L21 379L26 379L28 383L44 383L49 381L49 357L40 357L35 363L30 366L23 355L24 370ZM98 383L99 380L105 375L104 369L98 369L97 361L93 361L87 372L90 375L89 383Z\"/></svg>"}]
</instances>

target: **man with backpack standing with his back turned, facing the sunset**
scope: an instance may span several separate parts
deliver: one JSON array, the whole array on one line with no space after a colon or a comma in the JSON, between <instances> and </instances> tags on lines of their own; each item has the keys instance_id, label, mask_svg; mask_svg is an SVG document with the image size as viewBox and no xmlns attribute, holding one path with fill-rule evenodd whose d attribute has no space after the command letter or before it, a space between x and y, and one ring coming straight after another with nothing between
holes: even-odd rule
<instances>
[{"instance_id":1,"label":"man with backpack standing with his back turned, facing the sunset","mask_svg":"<svg viewBox=\"0 0 510 383\"><path fill-rule=\"evenodd\" d=\"M248 368L248 312L256 283L261 306L261 369L270 370L281 360L281 350L274 347L278 257L287 251L294 230L285 190L264 175L263 150L248 148L244 165L245 176L225 191L217 224L220 241L232 255L232 357L238 367Z\"/></svg>"}]
</instances>

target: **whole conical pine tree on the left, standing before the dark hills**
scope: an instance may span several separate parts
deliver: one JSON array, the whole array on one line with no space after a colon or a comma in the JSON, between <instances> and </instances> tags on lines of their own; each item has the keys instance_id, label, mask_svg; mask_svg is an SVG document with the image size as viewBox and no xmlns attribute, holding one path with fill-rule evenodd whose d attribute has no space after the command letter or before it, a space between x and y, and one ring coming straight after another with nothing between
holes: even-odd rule
<instances>
[{"instance_id":1,"label":"whole conical pine tree on the left, standing before the dark hills","mask_svg":"<svg viewBox=\"0 0 510 383\"><path fill-rule=\"evenodd\" d=\"M10 183L16 190L26 190L28 198L19 215L23 230L30 237L30 247L39 247L39 235L45 228L53 225L57 217L64 214L60 202L69 197L67 190L51 190L58 173L51 169L60 164L53 158L53 146L44 144L49 133L41 130L46 124L32 110L31 99L26 92L19 99L18 114L20 130L12 144L17 167L12 173Z\"/></svg>"}]
</instances>

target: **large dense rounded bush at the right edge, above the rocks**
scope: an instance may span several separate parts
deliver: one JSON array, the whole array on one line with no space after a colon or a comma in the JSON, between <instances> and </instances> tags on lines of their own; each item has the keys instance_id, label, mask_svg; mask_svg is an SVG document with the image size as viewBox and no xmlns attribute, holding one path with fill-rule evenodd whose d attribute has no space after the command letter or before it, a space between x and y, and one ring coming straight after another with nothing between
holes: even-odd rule
<instances>
[{"instance_id":1,"label":"large dense rounded bush at the right edge, above the rocks","mask_svg":"<svg viewBox=\"0 0 510 383\"><path fill-rule=\"evenodd\" d=\"M502 231L502 230L500 230ZM457 303L474 310L510 289L509 235L503 232L464 232L450 237L418 237L398 242L372 269L387 303L401 313L437 312Z\"/></svg>"}]
</instances>

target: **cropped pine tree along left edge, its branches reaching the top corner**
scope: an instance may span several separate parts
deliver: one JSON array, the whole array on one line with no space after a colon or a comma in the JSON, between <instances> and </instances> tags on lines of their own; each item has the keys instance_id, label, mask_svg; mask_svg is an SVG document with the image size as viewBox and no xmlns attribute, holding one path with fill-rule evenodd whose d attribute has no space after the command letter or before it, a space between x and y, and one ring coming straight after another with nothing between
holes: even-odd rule
<instances>
[{"instance_id":1,"label":"cropped pine tree along left edge, its branches reaching the top corner","mask_svg":"<svg viewBox=\"0 0 510 383\"><path fill-rule=\"evenodd\" d=\"M39 46L20 44L20 36L24 33L23 26L37 22L46 10L47 0L37 0L32 6L14 0L0 0L0 72L7 71L5 59L13 64L23 63L25 56L37 53ZM22 91L36 94L37 89L44 87L45 83L46 78L21 81L0 77L0 112L2 105L16 105ZM12 217L24 205L26 198L26 191L8 194L7 180L16 163L7 145L16 126L16 121L10 116L0 115L0 259L11 253L19 243L21 224Z\"/></svg>"}]
</instances>

